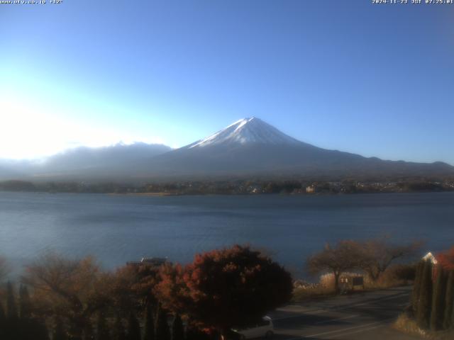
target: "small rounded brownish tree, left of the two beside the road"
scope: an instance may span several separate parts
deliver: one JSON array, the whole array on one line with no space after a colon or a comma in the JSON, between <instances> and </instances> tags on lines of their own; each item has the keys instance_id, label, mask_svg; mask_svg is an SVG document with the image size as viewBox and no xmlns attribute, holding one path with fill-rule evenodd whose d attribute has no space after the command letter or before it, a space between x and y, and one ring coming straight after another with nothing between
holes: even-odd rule
<instances>
[{"instance_id":1,"label":"small rounded brownish tree, left of the two beside the road","mask_svg":"<svg viewBox=\"0 0 454 340\"><path fill-rule=\"evenodd\" d=\"M340 241L336 246L326 244L325 249L309 257L307 267L310 273L319 274L324 271L333 273L334 289L339 291L339 278L345 271L358 268L360 249L353 241Z\"/></svg>"}]
</instances>

